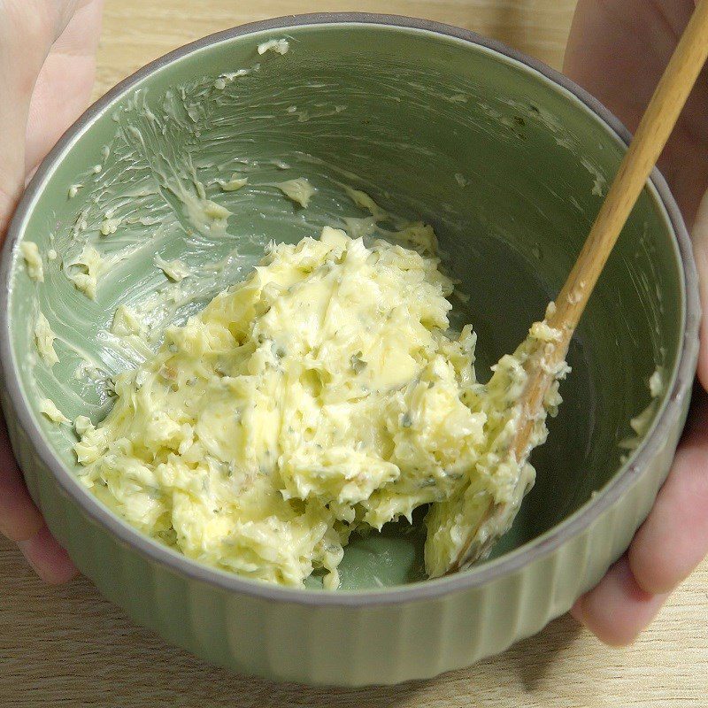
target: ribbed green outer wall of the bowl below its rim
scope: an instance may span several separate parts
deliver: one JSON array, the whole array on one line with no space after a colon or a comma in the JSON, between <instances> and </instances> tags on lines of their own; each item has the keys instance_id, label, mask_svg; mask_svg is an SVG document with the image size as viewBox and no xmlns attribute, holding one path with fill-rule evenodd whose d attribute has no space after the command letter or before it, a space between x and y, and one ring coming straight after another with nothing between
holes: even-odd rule
<instances>
[{"instance_id":1,"label":"ribbed green outer wall of the bowl below its rim","mask_svg":"<svg viewBox=\"0 0 708 708\"><path fill-rule=\"evenodd\" d=\"M11 416L12 447L52 534L130 617L208 662L281 681L359 686L423 679L503 651L566 612L627 548L666 478L688 408L625 494L580 534L476 587L358 606L238 594L142 555L59 487ZM8 401L4 408L10 411Z\"/></svg>"}]
</instances>

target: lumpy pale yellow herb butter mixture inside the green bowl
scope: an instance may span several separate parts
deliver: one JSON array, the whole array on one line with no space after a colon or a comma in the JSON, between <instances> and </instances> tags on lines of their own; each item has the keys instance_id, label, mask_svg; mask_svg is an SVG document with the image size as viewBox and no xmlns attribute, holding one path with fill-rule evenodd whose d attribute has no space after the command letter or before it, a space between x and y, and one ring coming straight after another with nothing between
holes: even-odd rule
<instances>
[{"instance_id":1,"label":"lumpy pale yellow herb butter mixture inside the green bowl","mask_svg":"<svg viewBox=\"0 0 708 708\"><path fill-rule=\"evenodd\" d=\"M470 531L484 550L513 518L489 509L515 511L534 480L509 450L524 347L557 333L536 325L479 383L475 335L450 333L453 283L438 266L429 250L331 227L272 245L119 374L101 424L77 419L81 480L189 558L290 586L322 568L336 588L352 533L422 504L429 575ZM558 402L556 386L548 409ZM545 434L540 419L532 445Z\"/></svg>"}]
</instances>

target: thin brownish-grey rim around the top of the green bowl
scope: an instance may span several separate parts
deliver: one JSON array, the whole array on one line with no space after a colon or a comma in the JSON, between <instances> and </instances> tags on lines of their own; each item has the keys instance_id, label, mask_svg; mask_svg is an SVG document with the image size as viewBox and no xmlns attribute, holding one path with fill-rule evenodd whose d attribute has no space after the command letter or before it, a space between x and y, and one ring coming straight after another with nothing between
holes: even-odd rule
<instances>
[{"instance_id":1,"label":"thin brownish-grey rim around the top of the green bowl","mask_svg":"<svg viewBox=\"0 0 708 708\"><path fill-rule=\"evenodd\" d=\"M615 473L612 479L604 485L604 488L593 499L589 500L557 526L551 527L543 535L523 544L519 549L489 561L487 564L473 567L464 573L375 590L287 588L262 581L253 581L234 573L227 573L217 568L204 566L175 550L162 546L148 536L142 535L141 532L129 526L127 522L119 519L112 512L109 512L103 504L100 504L94 496L89 494L88 490L82 489L73 473L64 466L50 446L44 442L41 429L35 420L35 415L27 405L19 385L18 367L12 350L9 304L12 292L12 253L14 245L24 230L25 222L28 215L32 212L35 199L42 192L43 182L50 175L54 166L58 164L65 150L71 147L74 139L81 135L113 101L127 94L139 81L189 54L243 35L274 30L287 31L290 27L327 27L332 25L367 25L370 27L418 30L420 33L437 35L438 38L443 40L450 38L462 40L478 48L488 50L489 53L500 55L499 58L502 60L511 59L513 62L530 70L530 73L540 74L542 78L550 81L557 88L566 89L581 104L584 104L589 109L589 112L595 115L596 119L603 121L605 126L620 142L627 145L631 139L627 128L612 112L605 108L594 96L581 89L563 74L537 59L529 58L517 50L512 50L503 42L482 37L461 27L403 15L370 12L315 12L265 19L207 35L151 61L123 81L120 81L104 96L101 96L94 104L89 106L89 109L66 130L54 148L50 150L50 153L42 160L42 164L27 186L14 213L3 246L2 265L0 265L0 285L2 286L0 288L0 369L3 374L5 390L9 400L12 402L13 411L16 413L27 437L34 445L42 463L53 474L59 487L73 503L78 504L81 513L88 516L91 521L104 527L119 542L130 546L132 550L135 550L151 562L157 563L172 572L181 573L187 576L190 581L200 581L215 589L289 604L358 607L427 600L478 588L496 581L504 575L519 572L523 567L549 555L562 544L581 534L635 484L635 481L648 466L650 459L664 442L669 428L673 426L681 415L681 402L683 397L689 394L696 370L697 333L700 319L698 280L689 234L681 217L681 212L666 184L666 180L659 173L658 168L655 168L651 173L650 182L653 184L658 196L659 204L666 210L666 218L673 229L674 247L678 247L678 255L680 257L678 260L683 275L683 281L681 282L681 295L684 300L682 312L683 336L672 389L666 392L664 403L658 412L653 428L635 451L634 458L625 466L624 470L620 467L620 470Z\"/></svg>"}]
</instances>

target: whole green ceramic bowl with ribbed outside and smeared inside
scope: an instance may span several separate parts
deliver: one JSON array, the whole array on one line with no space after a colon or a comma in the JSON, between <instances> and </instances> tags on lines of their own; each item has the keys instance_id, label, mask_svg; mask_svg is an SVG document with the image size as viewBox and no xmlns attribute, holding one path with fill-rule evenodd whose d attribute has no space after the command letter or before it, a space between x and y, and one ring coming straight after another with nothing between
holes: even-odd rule
<instances>
[{"instance_id":1,"label":"whole green ceramic bowl with ribbed outside and smeared inside","mask_svg":"<svg viewBox=\"0 0 708 708\"><path fill-rule=\"evenodd\" d=\"M258 53L281 38L287 54ZM342 183L435 226L446 267L472 295L455 318L477 330L483 372L557 292L627 139L603 106L548 67L417 19L273 19L190 44L121 83L44 161L4 248L4 411L52 533L135 621L207 661L274 679L423 678L537 632L627 548L689 404L696 273L657 172L573 341L566 402L535 453L535 489L493 556L466 573L425 580L419 533L396 526L351 544L336 592L316 580L283 589L200 566L81 487L71 428L45 419L38 402L50 397L71 419L101 419L110 398L81 362L115 373L141 356L116 349L106 332L118 304L147 307L158 338L166 322L242 278L270 239L296 241L363 216ZM216 180L236 171L249 185L220 190ZM273 188L299 176L318 188L304 210ZM233 212L227 223L200 227L185 210L197 182ZM81 186L70 197L72 185ZM95 300L67 278L85 271L75 261L87 239L108 264ZM44 256L42 283L27 275L23 240ZM201 277L170 284L156 254L183 258ZM51 369L35 351L39 310L58 335ZM651 404L656 370L663 386L650 432L623 458L620 442Z\"/></svg>"}]
</instances>

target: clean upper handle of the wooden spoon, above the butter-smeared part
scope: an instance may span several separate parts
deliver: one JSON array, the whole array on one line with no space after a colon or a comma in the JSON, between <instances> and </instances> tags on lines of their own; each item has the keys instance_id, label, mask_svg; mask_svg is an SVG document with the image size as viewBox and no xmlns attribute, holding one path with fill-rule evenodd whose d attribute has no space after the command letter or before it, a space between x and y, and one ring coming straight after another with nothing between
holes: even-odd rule
<instances>
[{"instance_id":1,"label":"clean upper handle of the wooden spoon, above the butter-smeared part","mask_svg":"<svg viewBox=\"0 0 708 708\"><path fill-rule=\"evenodd\" d=\"M548 319L550 327L564 331L568 342L706 58L708 0L701 0L658 83L581 254L558 294L556 311Z\"/></svg>"}]
</instances>

